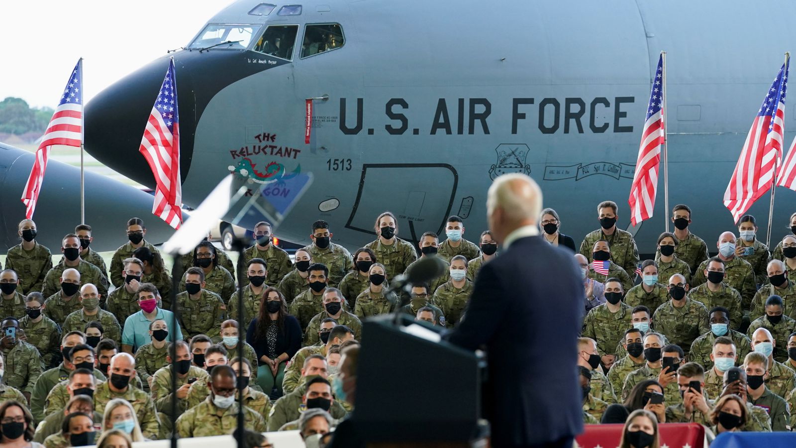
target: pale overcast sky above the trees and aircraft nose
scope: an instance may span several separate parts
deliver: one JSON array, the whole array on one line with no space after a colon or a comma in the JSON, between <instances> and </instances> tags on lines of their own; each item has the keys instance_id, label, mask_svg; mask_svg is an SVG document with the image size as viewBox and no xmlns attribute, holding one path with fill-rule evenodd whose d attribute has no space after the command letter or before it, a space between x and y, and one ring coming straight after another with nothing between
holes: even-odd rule
<instances>
[{"instance_id":1,"label":"pale overcast sky above the trees and aircraft nose","mask_svg":"<svg viewBox=\"0 0 796 448\"><path fill-rule=\"evenodd\" d=\"M80 57L84 100L186 45L232 0L0 0L0 100L55 108Z\"/></svg>"}]
</instances>

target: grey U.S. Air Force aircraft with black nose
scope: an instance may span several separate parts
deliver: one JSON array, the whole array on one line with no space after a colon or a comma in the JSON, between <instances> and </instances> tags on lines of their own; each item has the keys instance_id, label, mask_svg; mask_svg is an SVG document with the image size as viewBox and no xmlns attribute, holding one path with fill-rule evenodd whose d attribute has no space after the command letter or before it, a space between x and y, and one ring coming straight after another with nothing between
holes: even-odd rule
<instances>
[{"instance_id":1,"label":"grey U.S. Air Force aircraft with black nose","mask_svg":"<svg viewBox=\"0 0 796 448\"><path fill-rule=\"evenodd\" d=\"M521 172L540 183L563 233L579 241L598 228L596 205L611 199L619 226L651 253L670 216L662 171L653 218L630 226L627 197L665 50L669 209L691 206L691 229L714 250L735 229L724 189L796 41L789 27L761 33L772 12L788 17L796 4L239 0L185 47L90 100L86 148L154 187L139 143L174 57L189 206L235 171L257 200L291 206L277 231L287 241L309 242L310 223L325 219L335 242L356 248L375 238L384 210L398 216L401 238L441 232L458 214L477 241L492 179ZM786 104L786 131L794 118ZM302 173L310 186L296 180ZM794 195L777 190L773 242ZM767 199L750 210L761 235Z\"/></svg>"}]
</instances>

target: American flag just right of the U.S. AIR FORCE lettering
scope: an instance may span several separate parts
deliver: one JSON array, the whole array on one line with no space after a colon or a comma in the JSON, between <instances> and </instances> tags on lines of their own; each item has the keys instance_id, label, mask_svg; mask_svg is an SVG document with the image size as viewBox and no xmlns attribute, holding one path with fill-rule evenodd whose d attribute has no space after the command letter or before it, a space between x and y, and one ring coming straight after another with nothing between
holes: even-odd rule
<instances>
[{"instance_id":1,"label":"American flag just right of the U.S. AIR FORCE lettering","mask_svg":"<svg viewBox=\"0 0 796 448\"><path fill-rule=\"evenodd\" d=\"M657 169L661 163L661 146L665 140L663 122L663 54L657 61L655 81L650 89L650 104L642 131L642 143L638 147L636 172L630 184L630 222L636 226L652 216L657 191Z\"/></svg>"}]
</instances>

